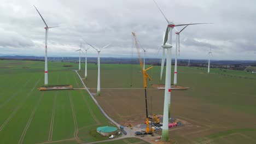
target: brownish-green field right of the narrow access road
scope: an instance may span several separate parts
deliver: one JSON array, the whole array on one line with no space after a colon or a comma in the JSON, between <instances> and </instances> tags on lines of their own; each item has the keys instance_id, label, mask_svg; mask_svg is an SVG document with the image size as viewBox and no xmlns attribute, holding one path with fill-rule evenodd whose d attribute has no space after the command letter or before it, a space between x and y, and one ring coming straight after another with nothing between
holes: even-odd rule
<instances>
[{"instance_id":1,"label":"brownish-green field right of the narrow access road","mask_svg":"<svg viewBox=\"0 0 256 144\"><path fill-rule=\"evenodd\" d=\"M96 93L97 66L89 65L85 83L91 92ZM164 91L151 89L150 85L164 83L165 77L160 80L158 66L148 73L153 78L148 82L149 112L161 115ZM84 75L83 70L80 75ZM178 85L189 89L172 91L171 115L188 124L170 131L171 141L255 143L255 74L219 69L211 69L207 74L206 68L178 67ZM121 124L145 121L144 91L136 89L143 88L139 65L101 64L101 88L101 96L97 100L115 121Z\"/></svg>"}]
</instances>

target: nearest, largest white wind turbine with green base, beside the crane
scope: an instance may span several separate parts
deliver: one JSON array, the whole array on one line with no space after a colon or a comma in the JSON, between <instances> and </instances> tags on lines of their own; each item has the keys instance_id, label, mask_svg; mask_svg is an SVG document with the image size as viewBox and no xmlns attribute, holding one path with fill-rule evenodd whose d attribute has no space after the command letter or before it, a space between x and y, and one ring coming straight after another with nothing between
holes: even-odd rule
<instances>
[{"instance_id":1,"label":"nearest, largest white wind turbine with green base, beside the crane","mask_svg":"<svg viewBox=\"0 0 256 144\"><path fill-rule=\"evenodd\" d=\"M154 1L154 0L153 0ZM154 1L155 2L155 1ZM159 8L158 4L155 2L156 6L158 9L161 11L162 10ZM162 15L165 17L164 13ZM168 117L170 117L170 109L171 109L171 48L172 48L172 29L177 27L177 26L187 26L187 25L197 25L197 24L202 24L202 23L188 23L188 24L180 24L180 25L174 25L173 22L170 22L166 19L167 21L167 28L166 32L163 38L163 43L161 47L163 49L167 49L167 56L166 56L166 76L165 76L165 99L164 99L164 116L163 116L163 123L162 123L162 140L163 141L168 141ZM169 38L169 43L167 43L168 40L168 34L170 34ZM163 50L163 57L165 56ZM162 59L165 59L163 58ZM162 61L163 63L164 61ZM161 64L161 67L163 67L164 64ZM163 68L161 68L163 69ZM161 71L162 72L162 71ZM162 75L162 74L161 74Z\"/></svg>"}]
</instances>

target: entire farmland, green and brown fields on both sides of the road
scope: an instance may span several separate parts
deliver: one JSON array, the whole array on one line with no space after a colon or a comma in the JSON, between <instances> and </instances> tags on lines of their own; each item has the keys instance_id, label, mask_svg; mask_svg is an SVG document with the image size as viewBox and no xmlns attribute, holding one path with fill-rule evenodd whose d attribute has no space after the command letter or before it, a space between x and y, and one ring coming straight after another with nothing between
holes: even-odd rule
<instances>
[{"instance_id":1,"label":"entire farmland, green and brown fields on both sides of the road","mask_svg":"<svg viewBox=\"0 0 256 144\"><path fill-rule=\"evenodd\" d=\"M112 124L84 89L38 91L37 88L44 82L42 68L44 62L0 61L0 143L107 140L108 137L97 134L95 129ZM49 62L49 85L83 87L72 71L77 68L78 64L74 63ZM82 77L83 69L84 64L79 72ZM256 75L219 69L211 69L208 75L206 70L178 67L178 85L189 89L172 91L171 116L187 123L180 129L170 131L171 142L255 143ZM165 77L160 80L158 66L148 73L152 77L152 81L148 82L149 113L162 115L164 91L151 85L164 83ZM88 79L84 82L92 93L96 93L97 65L88 64ZM145 121L139 65L101 64L101 88L101 95L96 99L111 118L124 125ZM113 142L126 141L142 142L137 139Z\"/></svg>"}]
</instances>

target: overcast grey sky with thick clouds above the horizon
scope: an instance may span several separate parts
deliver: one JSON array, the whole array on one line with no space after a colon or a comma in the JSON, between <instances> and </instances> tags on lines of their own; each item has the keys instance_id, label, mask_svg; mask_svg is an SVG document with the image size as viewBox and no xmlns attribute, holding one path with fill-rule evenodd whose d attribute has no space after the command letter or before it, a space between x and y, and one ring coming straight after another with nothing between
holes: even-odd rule
<instances>
[{"instance_id":1,"label":"overcast grey sky with thick clouds above the horizon","mask_svg":"<svg viewBox=\"0 0 256 144\"><path fill-rule=\"evenodd\" d=\"M178 58L256 60L256 1L238 0L155 0L169 21L175 24L214 22L188 26L181 34ZM0 54L44 56L45 25L33 7L36 5L49 29L48 56L78 56L90 43L103 47L102 57L131 57L132 34L147 50L158 53L167 22L153 0L29 1L2 0L0 4ZM177 27L181 29L182 27ZM172 58L176 35L173 33ZM133 56L137 56L133 49ZM158 53L158 55L156 55ZM94 49L89 57L96 57Z\"/></svg>"}]
</instances>

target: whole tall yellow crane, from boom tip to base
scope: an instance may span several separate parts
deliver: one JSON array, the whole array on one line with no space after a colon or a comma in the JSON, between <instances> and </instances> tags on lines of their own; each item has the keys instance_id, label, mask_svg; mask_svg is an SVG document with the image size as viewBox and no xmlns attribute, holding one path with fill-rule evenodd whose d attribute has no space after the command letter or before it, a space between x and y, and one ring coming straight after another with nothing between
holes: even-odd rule
<instances>
[{"instance_id":1,"label":"whole tall yellow crane, from boom tip to base","mask_svg":"<svg viewBox=\"0 0 256 144\"><path fill-rule=\"evenodd\" d=\"M146 131L145 131L145 134L152 134L154 132L154 129L150 128L149 129L149 121L148 121L148 103L147 103L147 79L150 81L151 78L150 76L148 75L147 73L147 70L153 68L152 67L149 67L147 69L143 69L143 63L142 63L142 59L141 59L141 53L139 52L139 45L138 45L138 40L137 40L137 37L136 37L136 34L134 32L132 32L132 35L135 39L135 45L136 45L136 49L137 49L137 53L138 53L138 58L139 58L139 64L141 65L141 70L143 72L143 82L144 82L144 91L145 91L145 101L146 101L146 124L147 124L147 128L146 128Z\"/></svg>"}]
</instances>

